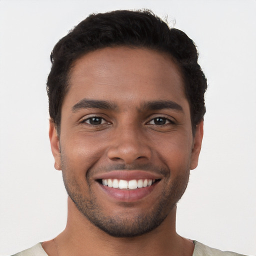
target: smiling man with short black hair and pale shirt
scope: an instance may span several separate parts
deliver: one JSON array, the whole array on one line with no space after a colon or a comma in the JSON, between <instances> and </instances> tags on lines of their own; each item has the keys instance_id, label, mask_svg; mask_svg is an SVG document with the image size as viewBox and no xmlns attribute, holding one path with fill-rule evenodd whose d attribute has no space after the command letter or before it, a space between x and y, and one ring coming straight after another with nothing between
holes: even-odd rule
<instances>
[{"instance_id":1,"label":"smiling man with short black hair and pale shirt","mask_svg":"<svg viewBox=\"0 0 256 256\"><path fill-rule=\"evenodd\" d=\"M176 233L206 79L191 39L149 11L90 15L51 53L49 138L66 228L15 255L238 255Z\"/></svg>"}]
</instances>

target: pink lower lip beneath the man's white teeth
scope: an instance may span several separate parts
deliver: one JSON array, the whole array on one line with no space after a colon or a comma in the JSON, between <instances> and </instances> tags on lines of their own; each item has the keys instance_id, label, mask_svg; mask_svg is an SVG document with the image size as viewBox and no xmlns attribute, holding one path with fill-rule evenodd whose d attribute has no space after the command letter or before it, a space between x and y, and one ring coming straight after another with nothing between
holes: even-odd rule
<instances>
[{"instance_id":1,"label":"pink lower lip beneath the man's white teeth","mask_svg":"<svg viewBox=\"0 0 256 256\"><path fill-rule=\"evenodd\" d=\"M111 198L120 202L135 202L138 201L152 192L158 182L150 186L136 188L136 189L119 189L108 187L99 184L100 188Z\"/></svg>"}]
</instances>

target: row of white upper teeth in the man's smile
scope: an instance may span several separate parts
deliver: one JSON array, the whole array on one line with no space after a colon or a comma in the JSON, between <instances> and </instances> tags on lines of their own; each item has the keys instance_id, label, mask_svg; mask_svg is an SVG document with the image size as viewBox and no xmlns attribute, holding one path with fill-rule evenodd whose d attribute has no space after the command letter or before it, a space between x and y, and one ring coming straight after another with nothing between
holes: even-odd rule
<instances>
[{"instance_id":1,"label":"row of white upper teeth in the man's smile","mask_svg":"<svg viewBox=\"0 0 256 256\"><path fill-rule=\"evenodd\" d=\"M155 179L102 179L102 184L109 187L119 188L119 189L136 189L140 187L150 186L155 182Z\"/></svg>"}]
</instances>

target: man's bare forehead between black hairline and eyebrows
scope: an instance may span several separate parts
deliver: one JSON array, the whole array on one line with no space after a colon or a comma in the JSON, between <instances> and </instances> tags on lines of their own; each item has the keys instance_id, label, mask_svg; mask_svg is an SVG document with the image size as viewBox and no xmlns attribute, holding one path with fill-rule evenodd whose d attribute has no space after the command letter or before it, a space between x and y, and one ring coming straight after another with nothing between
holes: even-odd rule
<instances>
[{"instance_id":1,"label":"man's bare forehead between black hairline and eyebrows","mask_svg":"<svg viewBox=\"0 0 256 256\"><path fill-rule=\"evenodd\" d=\"M127 105L184 100L185 93L179 67L169 54L122 46L98 49L75 60L63 103L74 104L82 98Z\"/></svg>"}]
</instances>

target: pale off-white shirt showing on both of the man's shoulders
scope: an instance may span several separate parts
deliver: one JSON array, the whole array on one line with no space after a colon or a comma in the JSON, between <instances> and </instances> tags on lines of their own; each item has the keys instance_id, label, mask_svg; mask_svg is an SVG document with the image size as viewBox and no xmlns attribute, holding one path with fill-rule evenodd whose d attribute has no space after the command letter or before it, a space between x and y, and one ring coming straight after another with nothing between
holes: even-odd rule
<instances>
[{"instance_id":1,"label":"pale off-white shirt showing on both of the man's shoulders","mask_svg":"<svg viewBox=\"0 0 256 256\"><path fill-rule=\"evenodd\" d=\"M245 256L232 251L214 249L197 241L193 241L193 243L194 251L192 256ZM33 247L18 252L12 256L48 256L48 254L42 248L41 242L39 242Z\"/></svg>"}]
</instances>

